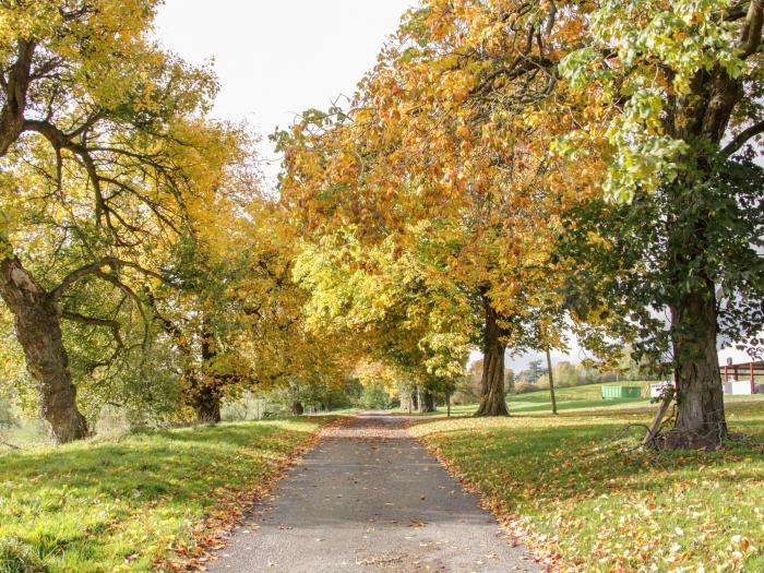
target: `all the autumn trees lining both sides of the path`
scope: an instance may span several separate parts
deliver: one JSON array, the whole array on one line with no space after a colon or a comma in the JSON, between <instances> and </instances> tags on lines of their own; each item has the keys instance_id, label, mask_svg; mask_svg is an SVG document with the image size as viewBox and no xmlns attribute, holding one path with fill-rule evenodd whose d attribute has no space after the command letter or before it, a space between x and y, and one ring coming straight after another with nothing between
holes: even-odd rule
<instances>
[{"instance_id":1,"label":"all the autumn trees lining both sides of the path","mask_svg":"<svg viewBox=\"0 0 764 573\"><path fill-rule=\"evenodd\" d=\"M363 365L429 402L476 347L506 415L508 347L571 334L670 365L671 445L725 439L717 341L764 323L761 2L427 0L274 136L277 196L157 3L0 2L0 357L57 443Z\"/></svg>"}]
</instances>

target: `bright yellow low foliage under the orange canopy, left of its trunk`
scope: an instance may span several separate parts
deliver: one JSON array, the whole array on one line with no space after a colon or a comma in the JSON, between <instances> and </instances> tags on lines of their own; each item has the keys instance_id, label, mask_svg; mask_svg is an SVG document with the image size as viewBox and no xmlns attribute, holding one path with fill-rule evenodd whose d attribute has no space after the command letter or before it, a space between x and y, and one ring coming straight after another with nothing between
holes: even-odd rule
<instances>
[{"instance_id":1,"label":"bright yellow low foliage under the orange canopy, left of its trunk","mask_svg":"<svg viewBox=\"0 0 764 573\"><path fill-rule=\"evenodd\" d=\"M303 244L295 278L310 293L313 332L351 339L361 361L395 372L396 386L420 386L434 408L433 393L461 372L469 347L469 301L459 291L392 239L365 247L350 230Z\"/></svg>"}]
</instances>

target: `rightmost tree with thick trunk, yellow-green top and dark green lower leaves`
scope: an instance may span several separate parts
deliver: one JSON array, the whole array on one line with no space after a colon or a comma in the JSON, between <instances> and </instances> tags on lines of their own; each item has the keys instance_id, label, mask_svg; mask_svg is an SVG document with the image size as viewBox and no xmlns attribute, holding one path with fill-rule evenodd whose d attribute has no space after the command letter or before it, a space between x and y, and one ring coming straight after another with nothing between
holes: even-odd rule
<instances>
[{"instance_id":1,"label":"rightmost tree with thick trunk, yellow-green top and dark green lower leaves","mask_svg":"<svg viewBox=\"0 0 764 573\"><path fill-rule=\"evenodd\" d=\"M671 360L677 447L724 441L717 343L764 325L751 147L764 132L763 22L759 1L605 1L560 65L581 117L560 151L608 165L601 198L569 216L570 302L618 307L640 354Z\"/></svg>"}]
</instances>

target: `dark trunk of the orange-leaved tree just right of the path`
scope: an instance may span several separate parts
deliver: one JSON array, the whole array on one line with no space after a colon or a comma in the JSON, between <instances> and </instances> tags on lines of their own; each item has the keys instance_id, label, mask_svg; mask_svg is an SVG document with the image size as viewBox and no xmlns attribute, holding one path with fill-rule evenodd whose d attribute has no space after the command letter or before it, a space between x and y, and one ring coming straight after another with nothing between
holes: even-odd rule
<instances>
[{"instance_id":1,"label":"dark trunk of the orange-leaved tree just right of the path","mask_svg":"<svg viewBox=\"0 0 764 573\"><path fill-rule=\"evenodd\" d=\"M504 333L488 297L484 296L482 306L486 311L486 330L482 343L481 398L475 416L509 416L510 411L504 399L504 351L506 350L506 344L502 341Z\"/></svg>"}]
</instances>

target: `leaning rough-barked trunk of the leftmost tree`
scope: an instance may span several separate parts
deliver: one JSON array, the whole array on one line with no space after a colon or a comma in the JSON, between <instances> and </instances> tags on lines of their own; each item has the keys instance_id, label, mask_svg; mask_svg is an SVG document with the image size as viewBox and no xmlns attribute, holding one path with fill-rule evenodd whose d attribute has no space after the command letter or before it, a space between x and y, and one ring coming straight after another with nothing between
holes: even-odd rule
<instances>
[{"instance_id":1,"label":"leaning rough-barked trunk of the leftmost tree","mask_svg":"<svg viewBox=\"0 0 764 573\"><path fill-rule=\"evenodd\" d=\"M55 303L15 256L0 260L0 297L13 313L26 367L39 391L39 413L48 422L53 443L85 438L87 421L76 407L76 389Z\"/></svg>"}]
</instances>

